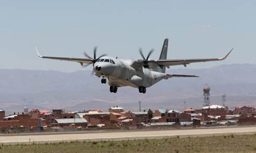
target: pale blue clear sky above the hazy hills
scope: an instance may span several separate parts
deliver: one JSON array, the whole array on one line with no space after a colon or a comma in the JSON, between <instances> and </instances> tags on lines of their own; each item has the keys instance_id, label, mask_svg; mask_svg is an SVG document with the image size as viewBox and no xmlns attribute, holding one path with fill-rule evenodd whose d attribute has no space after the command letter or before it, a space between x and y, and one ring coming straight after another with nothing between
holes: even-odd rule
<instances>
[{"instance_id":1,"label":"pale blue clear sky above the hazy hills","mask_svg":"<svg viewBox=\"0 0 256 153\"><path fill-rule=\"evenodd\" d=\"M83 51L119 58L140 58L170 39L168 58L222 57L221 64L256 64L255 0L12 0L0 1L0 68L73 72L78 63L37 58L42 55L83 58ZM179 68L179 67L174 67ZM88 67L86 69L91 69Z\"/></svg>"}]
</instances>

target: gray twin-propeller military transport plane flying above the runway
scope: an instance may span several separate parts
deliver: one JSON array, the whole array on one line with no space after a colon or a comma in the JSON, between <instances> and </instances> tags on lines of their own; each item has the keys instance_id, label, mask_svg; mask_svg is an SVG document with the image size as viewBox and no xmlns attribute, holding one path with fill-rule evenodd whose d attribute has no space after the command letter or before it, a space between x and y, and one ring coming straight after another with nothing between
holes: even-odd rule
<instances>
[{"instance_id":1,"label":"gray twin-propeller military transport plane flying above the runway","mask_svg":"<svg viewBox=\"0 0 256 153\"><path fill-rule=\"evenodd\" d=\"M84 55L87 58L41 56L38 50L37 55L40 58L78 62L83 67L92 64L93 73L98 77L102 77L102 84L107 82L106 78L108 79L110 92L116 93L117 88L121 86L131 86L138 88L140 93L146 93L146 88L149 88L162 79L168 79L172 77L198 77L194 75L166 74L166 67L170 68L170 66L173 65L184 65L186 67L186 65L190 63L222 61L228 57L233 49L231 49L223 58L167 59L168 39L166 38L163 42L160 58L157 60L149 59L149 56L154 51L153 49L149 51L149 54L146 58L140 49L140 54L143 59L138 60L117 59L109 57L107 54L96 57L96 50L97 47L94 48L93 58L85 52Z\"/></svg>"}]
</instances>

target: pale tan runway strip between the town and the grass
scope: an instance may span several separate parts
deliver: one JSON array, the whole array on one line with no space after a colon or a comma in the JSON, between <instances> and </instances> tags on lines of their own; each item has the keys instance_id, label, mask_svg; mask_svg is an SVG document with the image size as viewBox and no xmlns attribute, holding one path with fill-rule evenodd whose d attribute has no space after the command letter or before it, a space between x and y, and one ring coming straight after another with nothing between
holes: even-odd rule
<instances>
[{"instance_id":1,"label":"pale tan runway strip between the town and the grass","mask_svg":"<svg viewBox=\"0 0 256 153\"><path fill-rule=\"evenodd\" d=\"M166 137L196 137L213 135L241 135L256 134L256 126L223 127L223 128L196 128L175 130L122 130L100 131L90 133L67 134L34 134L34 135L1 135L0 144L31 144L69 141L104 141L104 140L133 140L133 139L160 139Z\"/></svg>"}]
</instances>

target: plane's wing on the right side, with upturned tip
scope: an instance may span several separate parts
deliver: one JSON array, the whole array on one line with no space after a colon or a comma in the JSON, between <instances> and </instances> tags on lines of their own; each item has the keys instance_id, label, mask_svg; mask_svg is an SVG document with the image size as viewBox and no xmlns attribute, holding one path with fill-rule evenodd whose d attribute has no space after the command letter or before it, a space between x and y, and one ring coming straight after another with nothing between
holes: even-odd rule
<instances>
[{"instance_id":1,"label":"plane's wing on the right side, with upturned tip","mask_svg":"<svg viewBox=\"0 0 256 153\"><path fill-rule=\"evenodd\" d=\"M149 68L150 65L158 65L158 66L173 66L173 65L184 65L186 67L187 64L197 63L197 62L210 62L210 61L222 61L228 57L228 55L232 52L231 49L223 58L195 58L195 59L158 59L158 60L149 60ZM144 65L144 60L137 60L133 65Z\"/></svg>"}]
</instances>

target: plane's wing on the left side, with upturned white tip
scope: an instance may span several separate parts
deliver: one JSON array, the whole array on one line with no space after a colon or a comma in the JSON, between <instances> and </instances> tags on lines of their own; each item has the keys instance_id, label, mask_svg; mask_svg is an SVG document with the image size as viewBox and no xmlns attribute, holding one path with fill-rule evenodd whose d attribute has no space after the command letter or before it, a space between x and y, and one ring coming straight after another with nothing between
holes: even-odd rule
<instances>
[{"instance_id":1,"label":"plane's wing on the left side, with upturned white tip","mask_svg":"<svg viewBox=\"0 0 256 153\"><path fill-rule=\"evenodd\" d=\"M93 59L89 59L89 58L65 58L65 57L41 56L39 54L39 51L38 51L37 47L36 47L36 50L37 50L37 56L40 57L40 58L55 59L55 60L61 60L61 61L78 62L81 65L83 65L83 63L87 63L87 64L93 63Z\"/></svg>"}]
</instances>

